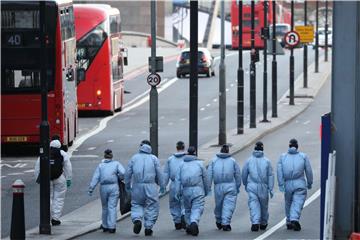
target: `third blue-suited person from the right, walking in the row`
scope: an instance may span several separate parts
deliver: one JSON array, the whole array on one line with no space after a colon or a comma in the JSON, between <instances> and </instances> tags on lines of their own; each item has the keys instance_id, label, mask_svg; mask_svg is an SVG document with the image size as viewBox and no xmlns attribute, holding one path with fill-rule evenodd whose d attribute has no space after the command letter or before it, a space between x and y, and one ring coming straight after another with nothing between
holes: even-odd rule
<instances>
[{"instance_id":1,"label":"third blue-suited person from the right, walking in the row","mask_svg":"<svg viewBox=\"0 0 360 240\"><path fill-rule=\"evenodd\" d=\"M214 181L216 226L219 230L231 231L230 223L240 192L241 173L239 164L229 154L229 145L221 147L207 171L209 189Z\"/></svg>"}]
</instances>

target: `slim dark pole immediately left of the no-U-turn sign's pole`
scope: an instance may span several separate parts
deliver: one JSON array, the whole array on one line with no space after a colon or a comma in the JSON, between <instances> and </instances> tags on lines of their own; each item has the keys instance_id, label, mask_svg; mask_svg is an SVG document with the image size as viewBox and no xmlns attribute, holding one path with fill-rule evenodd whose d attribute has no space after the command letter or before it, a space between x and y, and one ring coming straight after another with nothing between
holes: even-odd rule
<instances>
[{"instance_id":1,"label":"slim dark pole immediately left of the no-U-turn sign's pole","mask_svg":"<svg viewBox=\"0 0 360 240\"><path fill-rule=\"evenodd\" d=\"M273 7L273 31L272 31L272 117L277 117L277 62L276 62L276 1L272 1Z\"/></svg>"}]
</instances>

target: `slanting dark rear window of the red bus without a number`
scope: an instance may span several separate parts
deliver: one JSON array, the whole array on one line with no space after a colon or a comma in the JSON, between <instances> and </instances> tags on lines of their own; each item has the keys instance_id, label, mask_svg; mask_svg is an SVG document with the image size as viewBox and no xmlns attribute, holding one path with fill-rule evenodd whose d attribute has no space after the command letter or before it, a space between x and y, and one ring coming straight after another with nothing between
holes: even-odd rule
<instances>
[{"instance_id":1,"label":"slanting dark rear window of the red bus without a number","mask_svg":"<svg viewBox=\"0 0 360 240\"><path fill-rule=\"evenodd\" d=\"M77 44L77 59L80 68L85 70L89 68L106 38L105 23L103 22L79 40Z\"/></svg>"}]
</instances>

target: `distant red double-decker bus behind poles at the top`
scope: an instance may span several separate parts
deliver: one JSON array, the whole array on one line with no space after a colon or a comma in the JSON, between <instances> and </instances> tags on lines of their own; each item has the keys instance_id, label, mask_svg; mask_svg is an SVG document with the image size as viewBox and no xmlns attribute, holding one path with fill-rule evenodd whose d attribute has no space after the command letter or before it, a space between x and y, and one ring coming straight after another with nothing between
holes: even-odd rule
<instances>
[{"instance_id":1,"label":"distant red double-decker bus behind poles at the top","mask_svg":"<svg viewBox=\"0 0 360 240\"><path fill-rule=\"evenodd\" d=\"M239 48L239 1L231 1L231 34L232 49ZM268 3L268 24L272 23L272 1ZM255 1L255 48L263 49L261 29L264 27L264 1ZM251 1L243 1L243 49L251 48Z\"/></svg>"}]
</instances>

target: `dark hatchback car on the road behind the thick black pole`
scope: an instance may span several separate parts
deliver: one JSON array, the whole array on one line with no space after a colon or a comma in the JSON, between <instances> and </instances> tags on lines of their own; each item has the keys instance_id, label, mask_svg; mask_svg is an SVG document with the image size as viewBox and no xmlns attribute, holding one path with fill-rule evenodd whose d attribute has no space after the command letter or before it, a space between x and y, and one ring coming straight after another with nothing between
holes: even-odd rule
<instances>
[{"instance_id":1,"label":"dark hatchback car on the road behind the thick black pole","mask_svg":"<svg viewBox=\"0 0 360 240\"><path fill-rule=\"evenodd\" d=\"M215 76L214 57L207 48L198 48L198 73L207 77ZM176 62L176 76L185 77L190 74L190 48L185 48Z\"/></svg>"}]
</instances>

